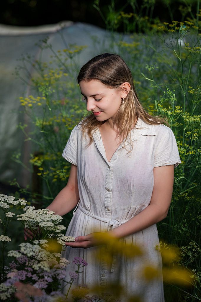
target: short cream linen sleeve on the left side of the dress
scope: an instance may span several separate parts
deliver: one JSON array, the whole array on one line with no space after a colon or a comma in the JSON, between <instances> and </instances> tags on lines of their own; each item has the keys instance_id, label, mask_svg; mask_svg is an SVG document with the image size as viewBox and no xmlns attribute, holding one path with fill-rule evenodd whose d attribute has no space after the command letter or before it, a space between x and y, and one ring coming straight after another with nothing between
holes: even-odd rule
<instances>
[{"instance_id":1,"label":"short cream linen sleeve on the left side of the dress","mask_svg":"<svg viewBox=\"0 0 201 302\"><path fill-rule=\"evenodd\" d=\"M68 162L77 166L77 147L78 147L78 129L77 126L73 128L70 133L70 137L63 150L62 156Z\"/></svg>"}]
</instances>

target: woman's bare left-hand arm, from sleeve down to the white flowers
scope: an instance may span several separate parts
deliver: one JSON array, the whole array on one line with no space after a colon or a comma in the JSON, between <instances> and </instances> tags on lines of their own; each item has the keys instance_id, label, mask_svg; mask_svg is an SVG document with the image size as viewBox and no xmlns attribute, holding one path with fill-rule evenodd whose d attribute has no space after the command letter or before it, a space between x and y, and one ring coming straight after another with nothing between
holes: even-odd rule
<instances>
[{"instance_id":1,"label":"woman's bare left-hand arm, from sleeve down to the white flowers","mask_svg":"<svg viewBox=\"0 0 201 302\"><path fill-rule=\"evenodd\" d=\"M67 185L57 194L47 209L63 216L76 207L78 201L77 167L72 164Z\"/></svg>"}]
</instances>

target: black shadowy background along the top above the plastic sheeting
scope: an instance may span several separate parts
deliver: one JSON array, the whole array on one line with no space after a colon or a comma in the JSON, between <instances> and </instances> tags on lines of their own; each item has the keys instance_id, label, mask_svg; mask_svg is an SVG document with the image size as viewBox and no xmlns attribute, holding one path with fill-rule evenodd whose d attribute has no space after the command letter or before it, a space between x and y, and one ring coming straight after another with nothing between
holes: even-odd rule
<instances>
[{"instance_id":1,"label":"black shadowy background along the top above the plastic sheeting","mask_svg":"<svg viewBox=\"0 0 201 302\"><path fill-rule=\"evenodd\" d=\"M127 1L114 1L115 10L122 10ZM110 0L100 0L99 5L104 16L109 13ZM135 5L140 9L142 1L136 0ZM151 0L147 0L151 2ZM195 0L174 1L156 0L153 10L153 18L158 17L160 21L182 20L183 14L190 16L186 11L179 9L181 5L188 3L192 11L196 12L197 2ZM85 22L104 28L105 23L99 12L93 7L94 0L2 0L0 8L0 23L17 26L37 26L43 24L54 24L59 21L70 20L74 22ZM123 8L124 12L132 12L128 3ZM147 8L143 8L144 14ZM172 15L172 16L170 16ZM195 15L195 14L194 14ZM121 31L121 27L119 28Z\"/></svg>"}]
</instances>

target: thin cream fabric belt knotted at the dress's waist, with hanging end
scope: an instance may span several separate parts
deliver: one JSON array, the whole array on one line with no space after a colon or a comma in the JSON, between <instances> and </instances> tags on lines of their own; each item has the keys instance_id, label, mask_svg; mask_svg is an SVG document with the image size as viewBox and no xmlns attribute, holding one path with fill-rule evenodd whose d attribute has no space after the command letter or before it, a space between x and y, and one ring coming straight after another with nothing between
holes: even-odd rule
<instances>
[{"instance_id":1,"label":"thin cream fabric belt knotted at the dress's waist, with hanging end","mask_svg":"<svg viewBox=\"0 0 201 302\"><path fill-rule=\"evenodd\" d=\"M123 224L123 223L125 223L129 220L129 219L125 220L125 221L120 221L119 219L109 220L109 219L105 219L105 218L96 216L96 215L88 212L86 209L80 207L79 202L78 202L75 210L73 211L73 215L75 214L75 211L76 211L77 208L79 208L79 210L81 210L84 214L86 214L86 215L88 215L92 218L95 218L95 219L100 220L102 222L108 223L108 232L111 231L112 229L114 229L115 227L120 226L121 224ZM114 271L116 259L117 259L117 253L115 252L113 257L112 257L112 265L111 265L111 271L110 271L111 273Z\"/></svg>"}]
</instances>

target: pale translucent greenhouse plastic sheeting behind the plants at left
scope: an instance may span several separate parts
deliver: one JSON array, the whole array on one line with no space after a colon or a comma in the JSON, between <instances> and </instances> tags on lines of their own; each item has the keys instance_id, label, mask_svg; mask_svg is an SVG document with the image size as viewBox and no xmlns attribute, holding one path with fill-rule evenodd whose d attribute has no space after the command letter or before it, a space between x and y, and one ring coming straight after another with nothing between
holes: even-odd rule
<instances>
[{"instance_id":1,"label":"pale translucent greenhouse plastic sheeting behind the plants at left","mask_svg":"<svg viewBox=\"0 0 201 302\"><path fill-rule=\"evenodd\" d=\"M25 187L31 183L31 172L12 160L13 154L22 154L22 162L29 166L31 144L24 141L22 131L17 127L20 122L29 124L28 116L20 114L19 96L29 95L28 84L24 84L15 73L18 65L17 59L21 55L30 54L37 58L40 49L35 43L49 37L55 51L65 48L61 35L68 43L87 45L79 56L79 65L82 66L89 58L101 53L101 45L106 45L106 31L89 24L65 21L63 24L45 25L40 27L14 27L0 25L0 182L8 183L17 179L20 186ZM100 49L93 49L91 36L97 36ZM47 56L50 50L45 50ZM62 151L62 150L61 150Z\"/></svg>"}]
</instances>

